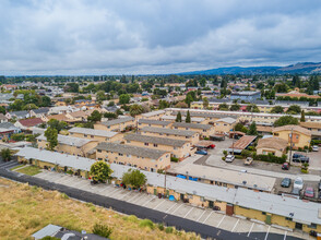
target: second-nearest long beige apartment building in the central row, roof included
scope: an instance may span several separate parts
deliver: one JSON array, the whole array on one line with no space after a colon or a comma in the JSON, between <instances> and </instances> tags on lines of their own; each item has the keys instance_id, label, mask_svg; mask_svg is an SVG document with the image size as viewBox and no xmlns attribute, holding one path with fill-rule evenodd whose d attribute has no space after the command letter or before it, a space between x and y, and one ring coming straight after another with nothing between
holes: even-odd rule
<instances>
[{"instance_id":1,"label":"second-nearest long beige apartment building in the central row, roof included","mask_svg":"<svg viewBox=\"0 0 321 240\"><path fill-rule=\"evenodd\" d=\"M165 139L141 134L128 134L123 137L124 143L133 146L147 147L170 152L171 157L183 159L194 154L191 143L183 140Z\"/></svg>"}]
</instances>

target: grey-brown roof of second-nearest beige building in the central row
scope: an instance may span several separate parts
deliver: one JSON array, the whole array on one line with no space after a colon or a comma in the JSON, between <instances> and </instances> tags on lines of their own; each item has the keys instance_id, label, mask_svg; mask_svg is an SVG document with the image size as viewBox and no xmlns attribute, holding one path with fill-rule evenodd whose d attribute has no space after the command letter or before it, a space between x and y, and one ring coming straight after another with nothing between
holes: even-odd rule
<instances>
[{"instance_id":1,"label":"grey-brown roof of second-nearest beige building in the central row","mask_svg":"<svg viewBox=\"0 0 321 240\"><path fill-rule=\"evenodd\" d=\"M141 134L127 134L123 136L123 139L129 141L142 142L142 143L152 143L152 144L177 146L177 147L181 147L183 144L188 143L188 141L183 141L183 140L174 140L174 139L148 136L148 135L141 135Z\"/></svg>"}]
</instances>

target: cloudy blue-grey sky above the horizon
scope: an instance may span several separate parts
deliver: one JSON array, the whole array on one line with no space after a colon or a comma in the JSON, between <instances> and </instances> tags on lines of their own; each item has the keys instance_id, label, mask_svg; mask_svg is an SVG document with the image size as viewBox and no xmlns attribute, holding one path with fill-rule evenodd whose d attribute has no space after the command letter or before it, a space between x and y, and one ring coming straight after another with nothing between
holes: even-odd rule
<instances>
[{"instance_id":1,"label":"cloudy blue-grey sky above the horizon","mask_svg":"<svg viewBox=\"0 0 321 240\"><path fill-rule=\"evenodd\" d=\"M0 0L0 75L321 62L320 0Z\"/></svg>"}]
</instances>

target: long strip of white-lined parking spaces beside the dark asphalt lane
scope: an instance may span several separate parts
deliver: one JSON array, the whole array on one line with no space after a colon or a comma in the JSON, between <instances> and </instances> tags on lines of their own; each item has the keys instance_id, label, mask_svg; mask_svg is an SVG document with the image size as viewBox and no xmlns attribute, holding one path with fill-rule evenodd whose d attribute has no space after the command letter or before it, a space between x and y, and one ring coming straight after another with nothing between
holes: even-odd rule
<instances>
[{"instance_id":1,"label":"long strip of white-lined parking spaces beside the dark asphalt lane","mask_svg":"<svg viewBox=\"0 0 321 240\"><path fill-rule=\"evenodd\" d=\"M182 202L171 202L167 199L158 199L152 194L129 191L122 188L114 187L112 184L102 183L91 185L90 180L47 170L43 170L43 172L36 175L35 177L180 216L231 232L239 232L250 238L262 240L309 239L307 233L299 231L292 232L287 229L278 229L263 223L254 223L238 216L227 216L210 208L200 208Z\"/></svg>"}]
</instances>

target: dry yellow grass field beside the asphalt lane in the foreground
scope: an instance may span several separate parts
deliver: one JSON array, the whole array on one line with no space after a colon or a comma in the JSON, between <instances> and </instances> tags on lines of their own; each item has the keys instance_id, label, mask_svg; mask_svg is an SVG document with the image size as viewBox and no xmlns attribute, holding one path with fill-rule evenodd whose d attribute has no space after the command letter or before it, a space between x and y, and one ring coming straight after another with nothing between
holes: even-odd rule
<instances>
[{"instance_id":1,"label":"dry yellow grass field beside the asphalt lane in the foreground","mask_svg":"<svg viewBox=\"0 0 321 240\"><path fill-rule=\"evenodd\" d=\"M1 240L32 239L29 236L48 224L92 232L97 223L112 228L110 239L201 239L192 232L166 229L135 216L71 200L57 191L1 178L0 213Z\"/></svg>"}]
</instances>

